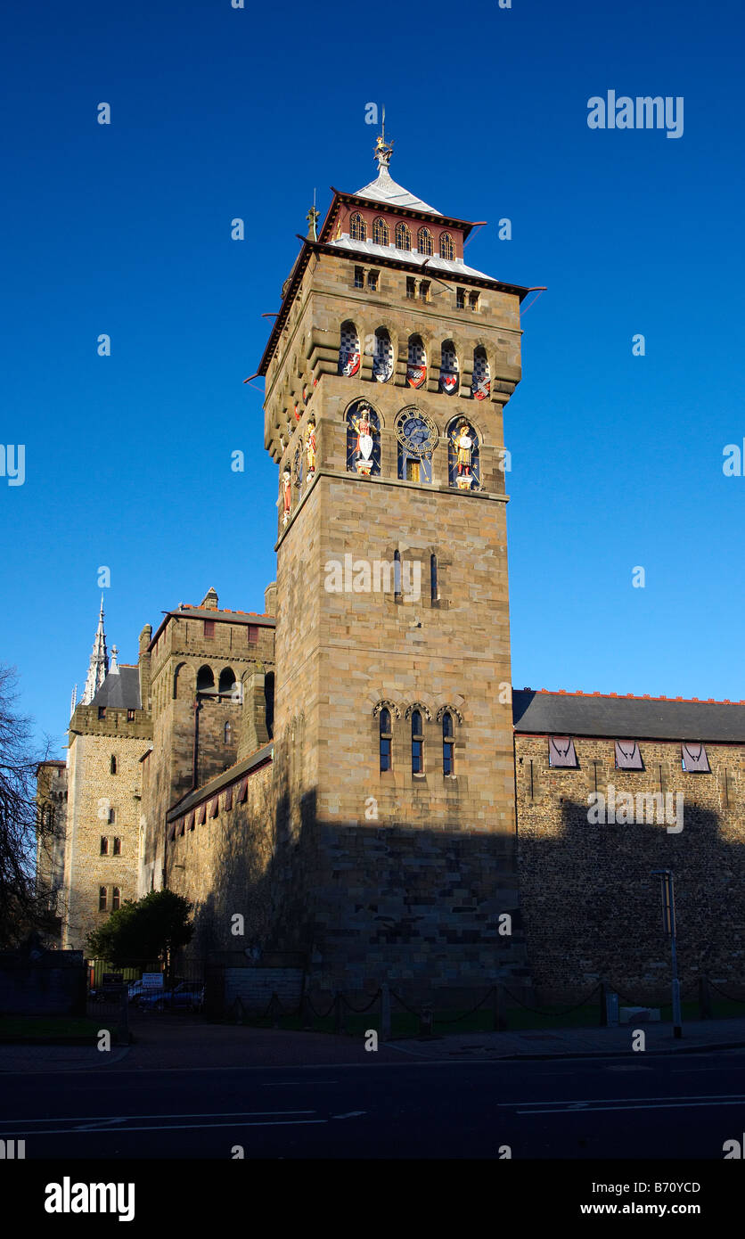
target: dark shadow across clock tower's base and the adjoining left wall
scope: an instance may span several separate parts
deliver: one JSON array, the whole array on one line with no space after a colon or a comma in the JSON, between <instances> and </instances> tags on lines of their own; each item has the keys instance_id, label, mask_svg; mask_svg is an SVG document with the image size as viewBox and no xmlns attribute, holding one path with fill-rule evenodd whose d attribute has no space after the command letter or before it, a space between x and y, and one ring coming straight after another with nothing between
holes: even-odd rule
<instances>
[{"instance_id":1,"label":"dark shadow across clock tower's base and the adjoining left wall","mask_svg":"<svg viewBox=\"0 0 745 1239\"><path fill-rule=\"evenodd\" d=\"M296 814L291 799L270 830L244 821L223 834L193 954L301 953L324 990L528 985L512 835L319 823L315 793ZM236 914L243 935L231 933Z\"/></svg>"}]
</instances>

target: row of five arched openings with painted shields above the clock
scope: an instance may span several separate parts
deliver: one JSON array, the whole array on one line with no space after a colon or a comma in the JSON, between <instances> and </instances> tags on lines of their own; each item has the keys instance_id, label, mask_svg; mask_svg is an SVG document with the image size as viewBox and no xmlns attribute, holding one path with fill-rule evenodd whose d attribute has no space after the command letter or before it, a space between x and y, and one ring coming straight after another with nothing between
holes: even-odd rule
<instances>
[{"instance_id":1,"label":"row of five arched openings with painted shields above the clock","mask_svg":"<svg viewBox=\"0 0 745 1239\"><path fill-rule=\"evenodd\" d=\"M347 378L359 372L361 351L359 335L353 322L342 322L338 342L338 373ZM378 383L388 383L393 378L393 343L387 327L378 327L373 344L373 378ZM413 388L424 385L428 372L426 348L421 336L415 332L409 336L407 349L407 384ZM460 363L455 343L443 341L440 346L440 390L455 395L460 387ZM471 395L476 400L485 399L491 390L491 372L483 344L474 349Z\"/></svg>"}]
</instances>

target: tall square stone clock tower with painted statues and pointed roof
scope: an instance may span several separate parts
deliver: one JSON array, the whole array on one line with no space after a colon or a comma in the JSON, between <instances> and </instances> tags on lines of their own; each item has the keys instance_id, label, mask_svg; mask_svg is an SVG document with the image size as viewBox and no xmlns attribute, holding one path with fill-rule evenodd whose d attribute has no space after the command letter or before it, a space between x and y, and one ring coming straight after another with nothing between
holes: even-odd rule
<instances>
[{"instance_id":1,"label":"tall square stone clock tower with painted statues and pointed roof","mask_svg":"<svg viewBox=\"0 0 745 1239\"><path fill-rule=\"evenodd\" d=\"M378 139L377 178L333 191L317 240L314 213L259 369L276 859L317 984L429 989L522 963L498 933L517 909L502 410L527 290L469 266L474 225L397 185L390 154Z\"/></svg>"}]
</instances>

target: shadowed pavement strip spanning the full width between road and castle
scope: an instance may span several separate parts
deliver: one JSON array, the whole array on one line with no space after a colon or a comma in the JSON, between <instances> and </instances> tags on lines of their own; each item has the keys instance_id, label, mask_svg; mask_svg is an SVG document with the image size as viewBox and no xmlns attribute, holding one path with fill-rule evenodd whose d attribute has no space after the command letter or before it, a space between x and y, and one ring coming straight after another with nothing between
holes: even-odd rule
<instances>
[{"instance_id":1,"label":"shadowed pavement strip spanning the full width between road and castle","mask_svg":"<svg viewBox=\"0 0 745 1239\"><path fill-rule=\"evenodd\" d=\"M700 1020L683 1025L676 1041L669 1023L640 1023L646 1054L681 1054L745 1048L745 1018ZM196 1070L233 1067L309 1067L404 1063L410 1058L492 1061L531 1058L636 1057L635 1026L555 1028L552 1032L466 1032L381 1043L372 1054L364 1038L324 1032L288 1032L203 1023L185 1016L133 1020L136 1041L103 1053L95 1046L0 1046L0 1073L92 1070Z\"/></svg>"}]
</instances>

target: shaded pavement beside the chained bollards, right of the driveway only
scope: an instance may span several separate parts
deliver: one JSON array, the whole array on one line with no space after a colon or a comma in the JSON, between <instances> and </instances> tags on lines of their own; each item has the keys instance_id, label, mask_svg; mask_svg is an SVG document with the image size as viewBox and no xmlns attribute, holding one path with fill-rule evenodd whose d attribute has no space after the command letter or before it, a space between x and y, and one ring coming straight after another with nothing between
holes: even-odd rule
<instances>
[{"instance_id":1,"label":"shaded pavement beside the chained bollards, right of the driveway only","mask_svg":"<svg viewBox=\"0 0 745 1239\"><path fill-rule=\"evenodd\" d=\"M636 1056L636 1030L643 1030L647 1054L681 1054L704 1049L745 1047L745 1018L695 1020L673 1037L671 1023L624 1025L620 1028L554 1028L524 1032L464 1032L431 1040L390 1042L419 1058L593 1058L607 1054Z\"/></svg>"}]
</instances>

